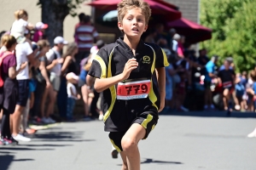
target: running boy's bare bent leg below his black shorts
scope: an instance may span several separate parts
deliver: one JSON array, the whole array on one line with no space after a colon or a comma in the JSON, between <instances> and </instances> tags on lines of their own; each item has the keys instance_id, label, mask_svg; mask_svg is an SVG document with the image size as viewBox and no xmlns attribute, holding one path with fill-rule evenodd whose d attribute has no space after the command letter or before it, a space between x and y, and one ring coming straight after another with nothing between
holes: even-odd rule
<instances>
[{"instance_id":1,"label":"running boy's bare bent leg below his black shorts","mask_svg":"<svg viewBox=\"0 0 256 170\"><path fill-rule=\"evenodd\" d=\"M129 170L139 170L140 169L140 153L137 147L138 142L143 139L146 135L146 129L137 123L133 123L125 136L121 140L123 152L126 155L127 166ZM125 156L121 153L121 156ZM123 159L124 161L124 159ZM123 167L125 166L125 161Z\"/></svg>"}]
</instances>

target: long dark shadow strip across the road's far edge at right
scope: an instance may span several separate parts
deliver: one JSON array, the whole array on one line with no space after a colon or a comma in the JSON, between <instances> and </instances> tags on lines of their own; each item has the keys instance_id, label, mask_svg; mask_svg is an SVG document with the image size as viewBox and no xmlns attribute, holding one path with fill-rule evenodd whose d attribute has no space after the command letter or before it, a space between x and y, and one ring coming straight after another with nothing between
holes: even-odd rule
<instances>
[{"instance_id":1,"label":"long dark shadow strip across the road's far edge at right","mask_svg":"<svg viewBox=\"0 0 256 170\"><path fill-rule=\"evenodd\" d=\"M232 111L230 115L226 111L165 111L160 112L161 116L203 116L203 117L235 117L235 118L256 118L254 112Z\"/></svg>"}]
</instances>

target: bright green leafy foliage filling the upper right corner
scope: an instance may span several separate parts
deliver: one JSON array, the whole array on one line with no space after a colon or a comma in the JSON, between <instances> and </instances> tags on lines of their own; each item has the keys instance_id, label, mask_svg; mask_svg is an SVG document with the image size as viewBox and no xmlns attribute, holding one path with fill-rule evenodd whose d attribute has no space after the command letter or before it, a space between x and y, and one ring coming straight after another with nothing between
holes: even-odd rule
<instances>
[{"instance_id":1,"label":"bright green leafy foliage filling the upper right corner","mask_svg":"<svg viewBox=\"0 0 256 170\"><path fill-rule=\"evenodd\" d=\"M212 28L212 39L201 42L209 55L232 56L237 71L256 63L256 0L201 0L201 24Z\"/></svg>"}]
</instances>

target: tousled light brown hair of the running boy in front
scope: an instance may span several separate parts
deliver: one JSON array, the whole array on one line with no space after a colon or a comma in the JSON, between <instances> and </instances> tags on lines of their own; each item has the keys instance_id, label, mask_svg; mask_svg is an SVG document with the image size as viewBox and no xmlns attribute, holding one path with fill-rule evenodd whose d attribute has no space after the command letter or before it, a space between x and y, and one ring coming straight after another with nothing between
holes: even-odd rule
<instances>
[{"instance_id":1,"label":"tousled light brown hair of the running boy in front","mask_svg":"<svg viewBox=\"0 0 256 170\"><path fill-rule=\"evenodd\" d=\"M143 0L122 0L118 4L118 21L122 23L122 20L125 17L125 13L132 8L141 8L143 15L145 16L146 24L148 25L148 20L151 16L151 9L148 3L145 3Z\"/></svg>"}]
</instances>

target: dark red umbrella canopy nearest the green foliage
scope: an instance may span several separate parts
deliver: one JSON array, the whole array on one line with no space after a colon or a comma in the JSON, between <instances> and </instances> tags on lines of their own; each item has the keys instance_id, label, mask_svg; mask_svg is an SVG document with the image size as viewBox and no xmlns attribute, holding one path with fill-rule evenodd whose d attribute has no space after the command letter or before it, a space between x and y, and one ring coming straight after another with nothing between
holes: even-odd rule
<instances>
[{"instance_id":1,"label":"dark red umbrella canopy nearest the green foliage","mask_svg":"<svg viewBox=\"0 0 256 170\"><path fill-rule=\"evenodd\" d=\"M212 38L212 30L184 18L167 23L168 28L175 28L178 34L186 37L190 43L202 42Z\"/></svg>"}]
</instances>

